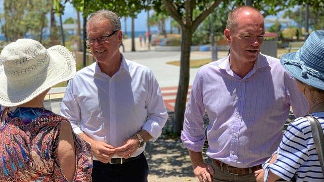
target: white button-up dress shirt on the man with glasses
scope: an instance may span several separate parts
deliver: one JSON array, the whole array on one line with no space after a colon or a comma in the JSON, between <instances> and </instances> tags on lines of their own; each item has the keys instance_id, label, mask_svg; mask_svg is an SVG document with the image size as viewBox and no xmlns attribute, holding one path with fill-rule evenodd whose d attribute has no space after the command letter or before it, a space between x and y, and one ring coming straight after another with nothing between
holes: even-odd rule
<instances>
[{"instance_id":1,"label":"white button-up dress shirt on the man with glasses","mask_svg":"<svg viewBox=\"0 0 324 182\"><path fill-rule=\"evenodd\" d=\"M157 140L167 119L162 93L151 70L124 57L112 77L101 72L98 63L80 70L70 80L60 114L76 134L115 147L141 129ZM138 156L145 149L138 148ZM119 158L113 156L113 158Z\"/></svg>"}]
</instances>

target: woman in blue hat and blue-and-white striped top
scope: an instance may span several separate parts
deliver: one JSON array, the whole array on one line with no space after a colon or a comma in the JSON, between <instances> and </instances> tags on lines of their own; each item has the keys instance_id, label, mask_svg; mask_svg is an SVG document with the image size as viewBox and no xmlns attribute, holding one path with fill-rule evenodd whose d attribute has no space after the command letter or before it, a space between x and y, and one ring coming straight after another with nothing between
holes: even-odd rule
<instances>
[{"instance_id":1,"label":"woman in blue hat and blue-and-white striped top","mask_svg":"<svg viewBox=\"0 0 324 182\"><path fill-rule=\"evenodd\" d=\"M310 104L309 113L324 127L324 31L314 31L296 53L280 59L283 67L297 80L297 86ZM263 170L256 171L258 182L279 179L296 182L324 182L307 118L297 118L288 126L282 142Z\"/></svg>"}]
</instances>

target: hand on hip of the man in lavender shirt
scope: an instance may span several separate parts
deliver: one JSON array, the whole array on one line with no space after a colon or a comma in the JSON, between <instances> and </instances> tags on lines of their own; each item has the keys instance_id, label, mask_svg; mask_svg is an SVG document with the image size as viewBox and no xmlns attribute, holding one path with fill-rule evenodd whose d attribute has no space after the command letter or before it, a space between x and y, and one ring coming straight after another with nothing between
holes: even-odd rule
<instances>
[{"instance_id":1,"label":"hand on hip of the man in lavender shirt","mask_svg":"<svg viewBox=\"0 0 324 182\"><path fill-rule=\"evenodd\" d=\"M206 163L193 167L193 173L198 178L199 182L213 182L212 175L214 174L214 170Z\"/></svg>"}]
</instances>

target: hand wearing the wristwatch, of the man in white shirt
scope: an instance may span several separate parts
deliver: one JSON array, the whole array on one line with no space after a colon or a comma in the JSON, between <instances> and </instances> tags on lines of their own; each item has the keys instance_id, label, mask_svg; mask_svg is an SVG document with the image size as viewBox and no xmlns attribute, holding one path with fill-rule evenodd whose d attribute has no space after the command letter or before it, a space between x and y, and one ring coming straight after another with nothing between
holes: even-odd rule
<instances>
[{"instance_id":1,"label":"hand wearing the wristwatch, of the man in white shirt","mask_svg":"<svg viewBox=\"0 0 324 182\"><path fill-rule=\"evenodd\" d=\"M116 155L122 158L130 158L136 150L139 148L139 138L137 136L132 136L127 138L120 147L115 149Z\"/></svg>"}]
</instances>

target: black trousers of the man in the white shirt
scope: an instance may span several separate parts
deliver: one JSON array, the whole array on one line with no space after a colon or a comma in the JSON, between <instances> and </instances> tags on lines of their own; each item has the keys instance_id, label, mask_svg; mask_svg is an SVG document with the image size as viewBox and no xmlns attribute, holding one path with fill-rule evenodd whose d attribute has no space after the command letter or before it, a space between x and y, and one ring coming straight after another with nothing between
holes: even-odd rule
<instances>
[{"instance_id":1,"label":"black trousers of the man in the white shirt","mask_svg":"<svg viewBox=\"0 0 324 182\"><path fill-rule=\"evenodd\" d=\"M148 182L149 165L144 154L124 164L93 161L93 182Z\"/></svg>"}]
</instances>

